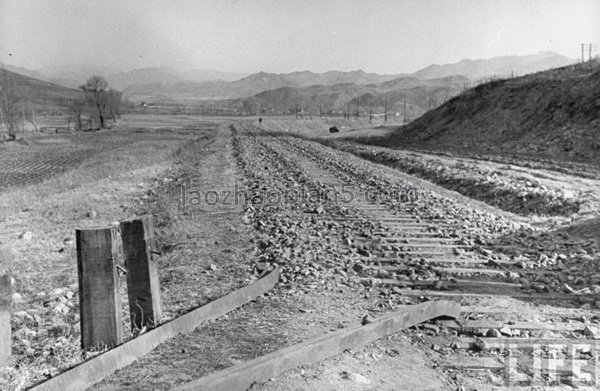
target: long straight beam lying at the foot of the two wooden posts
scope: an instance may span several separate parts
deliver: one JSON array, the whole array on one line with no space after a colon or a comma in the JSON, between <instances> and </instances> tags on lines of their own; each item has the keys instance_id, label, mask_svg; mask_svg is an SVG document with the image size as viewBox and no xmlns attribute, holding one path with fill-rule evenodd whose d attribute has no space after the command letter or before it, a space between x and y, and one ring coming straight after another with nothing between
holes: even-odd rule
<instances>
[{"instance_id":1,"label":"long straight beam lying at the foot of the two wooden posts","mask_svg":"<svg viewBox=\"0 0 600 391\"><path fill-rule=\"evenodd\" d=\"M136 361L159 344L173 338L177 334L189 333L201 323L216 319L263 295L273 289L278 281L279 269L276 269L248 286L200 307L189 314L164 323L131 341L39 384L31 389L31 391L84 390L116 370Z\"/></svg>"}]
</instances>

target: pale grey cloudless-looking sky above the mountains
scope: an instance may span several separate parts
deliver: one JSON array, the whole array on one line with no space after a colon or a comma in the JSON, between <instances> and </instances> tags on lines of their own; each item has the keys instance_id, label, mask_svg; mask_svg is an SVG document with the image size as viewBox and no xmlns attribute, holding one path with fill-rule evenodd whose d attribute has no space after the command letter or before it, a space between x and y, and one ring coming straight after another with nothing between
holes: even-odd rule
<instances>
[{"instance_id":1,"label":"pale grey cloudless-looking sky above the mountains","mask_svg":"<svg viewBox=\"0 0 600 391\"><path fill-rule=\"evenodd\" d=\"M600 41L600 0L0 0L0 62L413 72Z\"/></svg>"}]
</instances>

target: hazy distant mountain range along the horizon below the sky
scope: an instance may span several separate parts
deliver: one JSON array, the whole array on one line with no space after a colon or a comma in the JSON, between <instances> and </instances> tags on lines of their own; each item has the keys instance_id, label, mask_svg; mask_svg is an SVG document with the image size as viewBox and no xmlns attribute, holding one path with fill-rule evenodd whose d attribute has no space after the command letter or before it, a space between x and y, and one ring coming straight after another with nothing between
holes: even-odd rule
<instances>
[{"instance_id":1,"label":"hazy distant mountain range along the horizon below the sky","mask_svg":"<svg viewBox=\"0 0 600 391\"><path fill-rule=\"evenodd\" d=\"M381 75L363 70L315 73L259 72L241 75L220 71L177 72L166 67L119 72L106 67L54 67L32 71L4 66L21 75L77 88L92 74L105 76L111 87L134 103L221 107L230 113L286 113L301 104L311 113L343 112L348 105L406 112L411 118L442 104L481 79L520 76L575 63L553 52L503 56L431 65L412 74ZM0 67L2 65L0 64ZM354 111L355 108L352 109Z\"/></svg>"}]
</instances>

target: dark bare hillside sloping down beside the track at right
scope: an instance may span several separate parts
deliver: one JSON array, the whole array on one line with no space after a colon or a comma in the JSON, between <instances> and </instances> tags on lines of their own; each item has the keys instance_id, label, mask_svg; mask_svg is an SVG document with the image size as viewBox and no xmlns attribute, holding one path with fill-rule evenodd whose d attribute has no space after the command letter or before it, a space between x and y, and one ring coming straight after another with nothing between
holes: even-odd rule
<instances>
[{"instance_id":1,"label":"dark bare hillside sloping down beside the track at right","mask_svg":"<svg viewBox=\"0 0 600 391\"><path fill-rule=\"evenodd\" d=\"M596 60L481 84L379 143L598 163L599 128Z\"/></svg>"}]
</instances>

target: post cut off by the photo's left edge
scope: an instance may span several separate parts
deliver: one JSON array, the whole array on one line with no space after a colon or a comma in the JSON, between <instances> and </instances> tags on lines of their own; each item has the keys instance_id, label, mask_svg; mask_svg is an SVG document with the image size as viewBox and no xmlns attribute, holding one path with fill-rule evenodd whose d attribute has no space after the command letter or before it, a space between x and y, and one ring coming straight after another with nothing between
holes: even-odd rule
<instances>
[{"instance_id":1,"label":"post cut off by the photo's left edge","mask_svg":"<svg viewBox=\"0 0 600 391\"><path fill-rule=\"evenodd\" d=\"M7 247L0 246L0 367L7 365L11 355L10 301L12 256Z\"/></svg>"}]
</instances>

